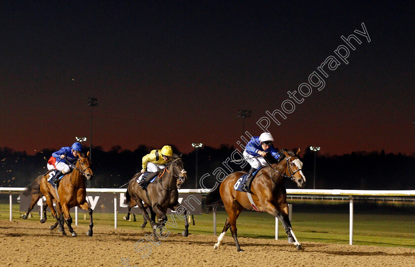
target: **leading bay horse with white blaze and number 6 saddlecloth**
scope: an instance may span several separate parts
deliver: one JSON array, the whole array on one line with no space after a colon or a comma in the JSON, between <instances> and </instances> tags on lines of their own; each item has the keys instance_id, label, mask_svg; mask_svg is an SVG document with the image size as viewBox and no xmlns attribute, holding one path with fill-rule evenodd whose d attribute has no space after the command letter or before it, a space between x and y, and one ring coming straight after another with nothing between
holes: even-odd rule
<instances>
[{"instance_id":1,"label":"leading bay horse with white blaze and number 6 saddlecloth","mask_svg":"<svg viewBox=\"0 0 415 267\"><path fill-rule=\"evenodd\" d=\"M272 156L265 157L268 165L262 167L251 184L251 197L257 211L267 212L277 217L284 226L288 235L288 242L294 243L297 249L302 249L301 243L298 242L291 228L288 217L287 191L285 189L285 178L289 177L299 188L305 186L305 177L302 173L302 162L298 154L292 151L280 151L283 157L276 161ZM232 237L238 251L244 251L239 246L237 238L236 220L244 209L255 210L249 201L248 193L236 191L234 185L246 172L234 172L228 175L213 191L207 194L206 204L212 205L222 199L225 210L228 213L225 226L218 237L214 249L218 249L222 244L226 231L231 228Z\"/></svg>"}]
</instances>

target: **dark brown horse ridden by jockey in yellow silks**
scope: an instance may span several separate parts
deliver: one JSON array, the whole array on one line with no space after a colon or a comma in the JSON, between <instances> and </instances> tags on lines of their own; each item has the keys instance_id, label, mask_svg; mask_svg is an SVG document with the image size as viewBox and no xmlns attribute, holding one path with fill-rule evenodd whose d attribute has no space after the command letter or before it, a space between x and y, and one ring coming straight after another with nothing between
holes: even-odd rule
<instances>
[{"instance_id":1,"label":"dark brown horse ridden by jockey in yellow silks","mask_svg":"<svg viewBox=\"0 0 415 267\"><path fill-rule=\"evenodd\" d=\"M156 228L164 226L167 222L166 211L168 208L175 211L180 206L177 188L180 188L187 180L187 172L184 170L182 159L175 154L172 158L173 160L166 163L163 172L156 176L156 180L147 186L147 191L142 190L136 182L136 178L141 175L141 173L137 173L128 183L125 193L124 204L128 204L129 210L133 207L131 206L134 204L132 202L138 205L144 217L144 224L141 225L141 228L145 228L147 221L149 221L156 241L158 241ZM150 208L152 218L149 217L146 211L147 207ZM187 214L186 209L184 209L184 214ZM158 217L157 223L155 222L156 215ZM184 226L185 229L182 234L188 236L189 223L187 219L184 219Z\"/></svg>"}]
</instances>

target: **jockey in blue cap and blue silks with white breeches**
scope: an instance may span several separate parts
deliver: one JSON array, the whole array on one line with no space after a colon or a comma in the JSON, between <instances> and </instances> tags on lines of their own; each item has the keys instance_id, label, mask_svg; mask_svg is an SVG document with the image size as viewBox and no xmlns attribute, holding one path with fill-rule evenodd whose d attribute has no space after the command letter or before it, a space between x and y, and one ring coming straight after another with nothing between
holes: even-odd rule
<instances>
[{"instance_id":1,"label":"jockey in blue cap and blue silks with white breeches","mask_svg":"<svg viewBox=\"0 0 415 267\"><path fill-rule=\"evenodd\" d=\"M52 182L55 185L57 184L57 179L60 174L64 175L73 170L73 165L67 164L67 161L70 163L77 161L77 159L80 157L81 150L81 143L76 142L72 145L72 147L63 147L60 150L52 153L52 156L56 158L56 164L54 166L48 164L47 168L51 170L53 167L55 167L58 170L58 172L56 172L52 178ZM67 161L64 158L66 158Z\"/></svg>"}]
</instances>

